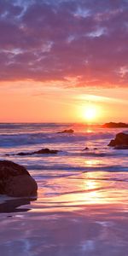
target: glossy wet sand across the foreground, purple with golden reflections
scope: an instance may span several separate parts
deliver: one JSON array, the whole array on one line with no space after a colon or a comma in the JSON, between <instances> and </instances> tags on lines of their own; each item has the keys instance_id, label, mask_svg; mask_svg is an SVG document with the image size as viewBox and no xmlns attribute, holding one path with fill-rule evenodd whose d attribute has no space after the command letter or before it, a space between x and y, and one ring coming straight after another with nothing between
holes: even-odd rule
<instances>
[{"instance_id":1,"label":"glossy wet sand across the foreground, purple with golden reflections","mask_svg":"<svg viewBox=\"0 0 128 256\"><path fill-rule=\"evenodd\" d=\"M37 201L1 199L0 255L127 256L127 180L84 172L49 179Z\"/></svg>"}]
</instances>

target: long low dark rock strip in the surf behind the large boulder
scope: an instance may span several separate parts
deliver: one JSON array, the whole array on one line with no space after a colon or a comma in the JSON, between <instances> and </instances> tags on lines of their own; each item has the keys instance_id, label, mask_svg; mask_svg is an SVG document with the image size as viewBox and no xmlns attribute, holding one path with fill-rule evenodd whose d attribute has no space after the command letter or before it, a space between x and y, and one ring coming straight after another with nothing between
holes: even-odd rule
<instances>
[{"instance_id":1,"label":"long low dark rock strip in the surf behind the large boulder","mask_svg":"<svg viewBox=\"0 0 128 256\"><path fill-rule=\"evenodd\" d=\"M57 154L59 151L58 150L53 150L53 149L49 149L49 148L43 148L43 149L40 149L38 151L33 151L33 152L20 152L20 153L17 153L17 154L5 154L6 156L9 156L9 155L21 155L21 156L24 156L24 155L32 155L32 154Z\"/></svg>"}]
</instances>

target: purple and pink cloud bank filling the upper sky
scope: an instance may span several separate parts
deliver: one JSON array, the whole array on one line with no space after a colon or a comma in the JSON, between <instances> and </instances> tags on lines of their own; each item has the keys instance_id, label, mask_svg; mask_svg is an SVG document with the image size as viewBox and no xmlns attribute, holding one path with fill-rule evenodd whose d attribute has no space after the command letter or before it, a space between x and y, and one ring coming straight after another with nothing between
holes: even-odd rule
<instances>
[{"instance_id":1,"label":"purple and pink cloud bank filling the upper sky","mask_svg":"<svg viewBox=\"0 0 128 256\"><path fill-rule=\"evenodd\" d=\"M128 87L127 17L126 0L0 0L0 80Z\"/></svg>"}]
</instances>

